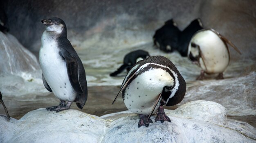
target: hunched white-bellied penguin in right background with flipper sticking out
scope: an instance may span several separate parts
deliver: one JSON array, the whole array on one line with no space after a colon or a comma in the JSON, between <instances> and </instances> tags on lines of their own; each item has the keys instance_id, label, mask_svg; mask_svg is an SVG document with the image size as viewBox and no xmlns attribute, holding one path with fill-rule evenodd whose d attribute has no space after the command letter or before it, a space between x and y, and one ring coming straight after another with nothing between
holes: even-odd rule
<instances>
[{"instance_id":1,"label":"hunched white-bellied penguin in right background with flipper sticking out","mask_svg":"<svg viewBox=\"0 0 256 143\"><path fill-rule=\"evenodd\" d=\"M239 54L241 52L228 39L211 28L196 32L189 42L188 57L199 65L202 70L197 80L203 80L204 73L218 74L216 79L224 79L223 72L229 65L230 54L228 45L231 45Z\"/></svg>"}]
</instances>

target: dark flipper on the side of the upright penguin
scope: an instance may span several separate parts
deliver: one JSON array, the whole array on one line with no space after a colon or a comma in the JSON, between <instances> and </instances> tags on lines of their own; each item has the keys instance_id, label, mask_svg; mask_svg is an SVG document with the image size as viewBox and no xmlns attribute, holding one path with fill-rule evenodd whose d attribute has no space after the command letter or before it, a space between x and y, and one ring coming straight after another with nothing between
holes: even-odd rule
<instances>
[{"instance_id":1,"label":"dark flipper on the side of the upright penguin","mask_svg":"<svg viewBox=\"0 0 256 143\"><path fill-rule=\"evenodd\" d=\"M67 66L67 75L70 80L70 83L76 93L78 94L83 94L83 89L80 83L80 78L84 77L79 77L79 64L78 60L74 57L71 56L70 54L65 53L62 54L63 58L65 59L66 66Z\"/></svg>"}]
</instances>

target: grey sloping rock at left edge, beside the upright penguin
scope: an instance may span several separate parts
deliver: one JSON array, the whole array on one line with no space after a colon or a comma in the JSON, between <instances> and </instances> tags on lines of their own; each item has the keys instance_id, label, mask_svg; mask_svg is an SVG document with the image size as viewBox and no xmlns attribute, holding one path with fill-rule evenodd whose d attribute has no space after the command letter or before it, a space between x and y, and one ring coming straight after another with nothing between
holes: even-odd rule
<instances>
[{"instance_id":1,"label":"grey sloping rock at left edge, beside the upright penguin","mask_svg":"<svg viewBox=\"0 0 256 143\"><path fill-rule=\"evenodd\" d=\"M0 74L22 75L40 69L36 56L24 48L11 34L0 32Z\"/></svg>"}]
</instances>

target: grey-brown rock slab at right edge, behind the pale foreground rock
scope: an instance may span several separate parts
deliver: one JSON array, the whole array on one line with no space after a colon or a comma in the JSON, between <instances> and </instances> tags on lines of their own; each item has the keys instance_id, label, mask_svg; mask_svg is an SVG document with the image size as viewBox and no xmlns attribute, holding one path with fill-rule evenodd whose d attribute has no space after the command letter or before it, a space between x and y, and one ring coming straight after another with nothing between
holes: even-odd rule
<instances>
[{"instance_id":1,"label":"grey-brown rock slab at right edge, behind the pale foreground rock","mask_svg":"<svg viewBox=\"0 0 256 143\"><path fill-rule=\"evenodd\" d=\"M224 80L203 80L186 91L184 104L193 100L208 100L225 106L228 115L256 115L256 72Z\"/></svg>"}]
</instances>

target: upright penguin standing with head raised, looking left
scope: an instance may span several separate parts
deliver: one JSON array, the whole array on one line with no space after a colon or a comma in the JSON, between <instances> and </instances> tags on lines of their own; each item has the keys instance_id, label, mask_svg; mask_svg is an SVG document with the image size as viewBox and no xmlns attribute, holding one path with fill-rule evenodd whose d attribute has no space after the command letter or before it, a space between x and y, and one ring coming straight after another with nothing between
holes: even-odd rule
<instances>
[{"instance_id":1,"label":"upright penguin standing with head raised, looking left","mask_svg":"<svg viewBox=\"0 0 256 143\"><path fill-rule=\"evenodd\" d=\"M47 111L69 109L72 102L83 108L87 100L87 82L83 63L67 39L67 28L63 20L52 17L41 20L46 30L41 37L39 63L43 72L45 88L60 99L58 106ZM67 103L66 103L67 101Z\"/></svg>"}]
</instances>

